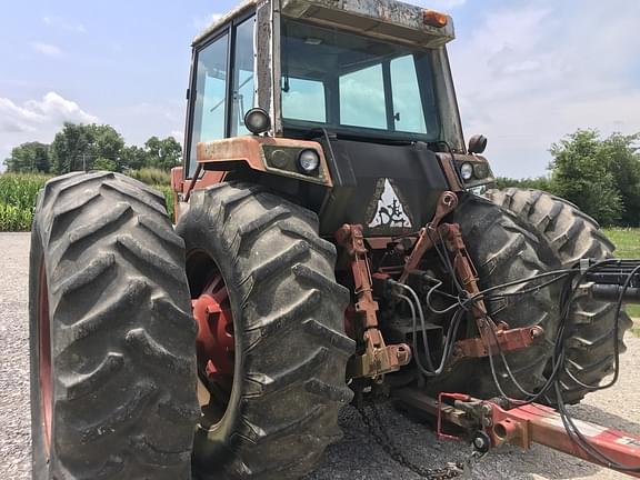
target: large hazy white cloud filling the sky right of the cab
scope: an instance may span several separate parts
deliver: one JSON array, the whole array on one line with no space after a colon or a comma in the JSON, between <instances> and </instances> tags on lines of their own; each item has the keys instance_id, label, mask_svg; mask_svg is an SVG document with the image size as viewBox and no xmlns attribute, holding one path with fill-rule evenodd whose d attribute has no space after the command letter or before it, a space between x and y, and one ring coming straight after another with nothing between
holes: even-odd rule
<instances>
[{"instance_id":1,"label":"large hazy white cloud filling the sky right of the cab","mask_svg":"<svg viewBox=\"0 0 640 480\"><path fill-rule=\"evenodd\" d=\"M496 173L543 174L551 143L578 128L640 131L640 2L618 2L614 22L597 0L518 4L492 9L450 47L464 131L489 138Z\"/></svg>"}]
</instances>

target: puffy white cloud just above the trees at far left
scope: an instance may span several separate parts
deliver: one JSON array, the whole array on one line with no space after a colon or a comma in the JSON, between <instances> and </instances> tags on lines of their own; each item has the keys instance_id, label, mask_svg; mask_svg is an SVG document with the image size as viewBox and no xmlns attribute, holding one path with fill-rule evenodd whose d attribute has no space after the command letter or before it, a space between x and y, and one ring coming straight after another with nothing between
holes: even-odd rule
<instances>
[{"instance_id":1,"label":"puffy white cloud just above the trees at far left","mask_svg":"<svg viewBox=\"0 0 640 480\"><path fill-rule=\"evenodd\" d=\"M0 163L20 143L52 141L64 122L94 123L98 118L56 92L22 104L0 98Z\"/></svg>"}]
</instances>

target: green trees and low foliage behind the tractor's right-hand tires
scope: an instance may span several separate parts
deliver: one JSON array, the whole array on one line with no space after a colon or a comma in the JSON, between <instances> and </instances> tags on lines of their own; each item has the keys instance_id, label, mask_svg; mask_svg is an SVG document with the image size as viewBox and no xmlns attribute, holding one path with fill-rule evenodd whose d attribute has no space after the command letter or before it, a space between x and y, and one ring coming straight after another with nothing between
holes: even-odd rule
<instances>
[{"instance_id":1,"label":"green trees and low foliage behind the tractor's right-hand tires","mask_svg":"<svg viewBox=\"0 0 640 480\"><path fill-rule=\"evenodd\" d=\"M549 176L499 178L497 188L544 190L577 204L603 226L640 227L640 134L578 130L551 146Z\"/></svg>"}]
</instances>

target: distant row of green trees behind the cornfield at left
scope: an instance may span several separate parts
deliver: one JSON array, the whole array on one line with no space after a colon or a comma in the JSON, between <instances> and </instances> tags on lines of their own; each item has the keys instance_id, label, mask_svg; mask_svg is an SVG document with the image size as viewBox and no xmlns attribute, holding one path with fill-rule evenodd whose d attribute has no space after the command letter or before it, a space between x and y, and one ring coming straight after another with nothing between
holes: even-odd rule
<instances>
[{"instance_id":1,"label":"distant row of green trees behind the cornfield at left","mask_svg":"<svg viewBox=\"0 0 640 480\"><path fill-rule=\"evenodd\" d=\"M173 137L151 137L143 147L127 146L107 124L64 123L51 144L27 142L11 150L7 171L62 174L77 170L122 172L141 168L169 171L180 163L182 147Z\"/></svg>"}]
</instances>

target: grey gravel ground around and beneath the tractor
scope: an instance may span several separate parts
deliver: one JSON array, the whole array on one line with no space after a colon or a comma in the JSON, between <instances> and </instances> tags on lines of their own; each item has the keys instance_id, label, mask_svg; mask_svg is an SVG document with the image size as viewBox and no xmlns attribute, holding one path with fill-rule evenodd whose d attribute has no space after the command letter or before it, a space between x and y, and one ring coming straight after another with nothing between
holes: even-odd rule
<instances>
[{"instance_id":1,"label":"grey gravel ground around and beneath the tractor","mask_svg":"<svg viewBox=\"0 0 640 480\"><path fill-rule=\"evenodd\" d=\"M27 288L29 233L0 233L0 479L30 477L29 346ZM583 419L640 433L638 384L640 339L628 338L629 352L622 357L622 378L612 390L597 392L572 412ZM623 400L627 403L623 403ZM463 460L467 446L440 442L420 423L390 408L382 417L397 446L414 462L440 467ZM332 446L324 463L309 480L401 479L419 477L393 462L371 439L358 413L341 416L344 439ZM610 472L552 450L534 447L523 453L513 448L492 452L473 470L478 479L622 479Z\"/></svg>"}]
</instances>

